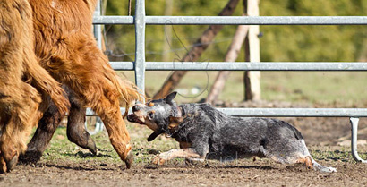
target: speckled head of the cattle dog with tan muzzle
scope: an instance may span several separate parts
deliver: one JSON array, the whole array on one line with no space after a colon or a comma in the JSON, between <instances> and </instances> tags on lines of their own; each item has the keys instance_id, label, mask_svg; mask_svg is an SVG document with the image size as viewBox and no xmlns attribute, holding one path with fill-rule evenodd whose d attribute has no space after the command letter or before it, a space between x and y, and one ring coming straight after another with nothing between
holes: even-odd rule
<instances>
[{"instance_id":1,"label":"speckled head of the cattle dog with tan muzzle","mask_svg":"<svg viewBox=\"0 0 367 187\"><path fill-rule=\"evenodd\" d=\"M175 131L183 122L181 109L174 101L177 92L172 92L166 98L149 101L146 105L132 106L132 115L127 120L132 123L147 125L154 132L148 140L154 140L159 134Z\"/></svg>"}]
</instances>

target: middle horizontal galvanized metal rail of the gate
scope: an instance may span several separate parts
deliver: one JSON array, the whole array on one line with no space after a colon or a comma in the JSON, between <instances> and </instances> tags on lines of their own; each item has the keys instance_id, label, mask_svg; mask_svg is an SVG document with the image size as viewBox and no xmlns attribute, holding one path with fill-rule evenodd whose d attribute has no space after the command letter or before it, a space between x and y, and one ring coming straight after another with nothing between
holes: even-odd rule
<instances>
[{"instance_id":1,"label":"middle horizontal galvanized metal rail of the gate","mask_svg":"<svg viewBox=\"0 0 367 187\"><path fill-rule=\"evenodd\" d=\"M134 70L133 62L110 62L116 71ZM147 71L367 71L367 62L146 62Z\"/></svg>"}]
</instances>

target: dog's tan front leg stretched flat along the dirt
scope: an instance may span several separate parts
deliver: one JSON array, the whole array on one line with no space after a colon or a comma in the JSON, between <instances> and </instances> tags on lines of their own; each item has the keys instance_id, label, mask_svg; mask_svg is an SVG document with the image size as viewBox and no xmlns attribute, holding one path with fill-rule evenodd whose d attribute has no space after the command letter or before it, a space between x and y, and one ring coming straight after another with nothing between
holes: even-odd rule
<instances>
[{"instance_id":1,"label":"dog's tan front leg stretched flat along the dirt","mask_svg":"<svg viewBox=\"0 0 367 187\"><path fill-rule=\"evenodd\" d=\"M182 158L201 158L201 156L196 153L194 149L171 149L164 153L159 154L155 157L152 161L155 165L163 165L166 161L173 159L175 157L182 157Z\"/></svg>"}]
</instances>

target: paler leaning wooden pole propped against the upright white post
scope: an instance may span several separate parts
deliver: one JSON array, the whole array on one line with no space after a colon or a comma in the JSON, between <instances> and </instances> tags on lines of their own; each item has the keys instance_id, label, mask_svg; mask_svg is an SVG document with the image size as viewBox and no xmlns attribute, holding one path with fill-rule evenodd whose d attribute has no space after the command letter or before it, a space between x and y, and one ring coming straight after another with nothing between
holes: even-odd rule
<instances>
[{"instance_id":1,"label":"paler leaning wooden pole propped against the upright white post","mask_svg":"<svg viewBox=\"0 0 367 187\"><path fill-rule=\"evenodd\" d=\"M249 30L248 25L239 25L235 31L235 37L232 39L231 45L228 47L226 52L225 62L235 62L240 53L241 47L243 46L244 38L246 38L247 31ZM226 80L229 76L229 71L218 72L217 78L214 81L206 102L213 105L217 100L220 92L225 87Z\"/></svg>"}]
</instances>

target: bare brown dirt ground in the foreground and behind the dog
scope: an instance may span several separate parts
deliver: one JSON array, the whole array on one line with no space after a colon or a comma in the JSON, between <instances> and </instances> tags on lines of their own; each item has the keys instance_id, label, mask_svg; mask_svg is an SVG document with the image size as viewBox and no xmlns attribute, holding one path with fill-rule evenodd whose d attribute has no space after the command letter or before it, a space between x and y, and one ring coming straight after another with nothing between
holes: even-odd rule
<instances>
[{"instance_id":1,"label":"bare brown dirt ground in the foreground and behind the dog","mask_svg":"<svg viewBox=\"0 0 367 187\"><path fill-rule=\"evenodd\" d=\"M348 118L284 118L303 133L312 157L337 168L325 174L304 166L286 166L269 159L241 159L229 163L207 161L186 165L174 160L165 166L87 160L41 160L35 166L19 165L0 175L0 186L366 186L367 165L350 154ZM361 119L358 151L367 157L367 120ZM134 132L131 132L134 133Z\"/></svg>"}]
</instances>

